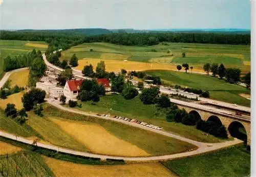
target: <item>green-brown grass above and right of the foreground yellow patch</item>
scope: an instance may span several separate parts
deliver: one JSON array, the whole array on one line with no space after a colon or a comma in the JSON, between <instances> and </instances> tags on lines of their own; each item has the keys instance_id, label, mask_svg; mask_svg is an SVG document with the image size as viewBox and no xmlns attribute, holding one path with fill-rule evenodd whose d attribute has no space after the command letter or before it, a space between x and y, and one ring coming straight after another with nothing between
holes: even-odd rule
<instances>
[{"instance_id":1,"label":"green-brown grass above and right of the foreground yellow patch","mask_svg":"<svg viewBox=\"0 0 256 177\"><path fill-rule=\"evenodd\" d=\"M146 152L152 155L178 153L181 151L194 148L193 145L178 141L173 138L161 136L154 132L145 131L140 128L120 124L113 121L96 119L69 112L62 112L61 110L48 104L46 104L45 110L48 116L97 123L104 127L106 130L110 131L118 138L130 142L131 144L138 146L139 148L145 150ZM131 134L131 132L133 132L133 134Z\"/></svg>"}]
</instances>

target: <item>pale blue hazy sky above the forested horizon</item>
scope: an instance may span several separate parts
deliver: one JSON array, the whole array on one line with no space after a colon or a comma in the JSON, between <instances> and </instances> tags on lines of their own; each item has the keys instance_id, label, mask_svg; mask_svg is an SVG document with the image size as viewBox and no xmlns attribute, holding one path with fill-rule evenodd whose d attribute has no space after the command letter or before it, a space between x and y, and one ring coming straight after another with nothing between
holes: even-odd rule
<instances>
[{"instance_id":1,"label":"pale blue hazy sky above the forested horizon","mask_svg":"<svg viewBox=\"0 0 256 177\"><path fill-rule=\"evenodd\" d=\"M249 0L0 0L0 29L250 29Z\"/></svg>"}]
</instances>

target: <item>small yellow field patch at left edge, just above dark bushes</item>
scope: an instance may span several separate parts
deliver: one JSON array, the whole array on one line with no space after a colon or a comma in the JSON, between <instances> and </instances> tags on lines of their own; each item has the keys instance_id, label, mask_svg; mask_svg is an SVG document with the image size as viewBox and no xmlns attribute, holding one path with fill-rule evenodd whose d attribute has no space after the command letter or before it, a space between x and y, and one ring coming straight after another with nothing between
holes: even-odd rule
<instances>
[{"instance_id":1,"label":"small yellow field patch at left edge, just above dark bushes","mask_svg":"<svg viewBox=\"0 0 256 177\"><path fill-rule=\"evenodd\" d=\"M9 95L7 99L0 99L0 107L2 109L5 109L7 103L12 103L16 105L17 109L23 108L23 104L22 104L23 94L24 92L19 92L17 94Z\"/></svg>"}]
</instances>

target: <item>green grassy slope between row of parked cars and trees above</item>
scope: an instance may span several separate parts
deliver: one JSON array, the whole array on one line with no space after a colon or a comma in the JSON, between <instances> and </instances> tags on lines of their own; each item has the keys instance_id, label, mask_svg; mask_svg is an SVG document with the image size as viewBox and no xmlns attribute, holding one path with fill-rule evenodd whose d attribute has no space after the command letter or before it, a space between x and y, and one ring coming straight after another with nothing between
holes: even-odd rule
<instances>
[{"instance_id":1,"label":"green grassy slope between row of parked cars and trees above","mask_svg":"<svg viewBox=\"0 0 256 177\"><path fill-rule=\"evenodd\" d=\"M112 110L110 110L110 108L112 108ZM153 123L154 125L163 127L167 131L172 131L197 141L212 143L222 141L211 135L203 135L202 131L196 129L194 126L185 126L181 123L167 122L164 113L160 113L160 115L156 116L156 107L154 105L144 105L139 97L132 100L125 100L121 95L104 96L100 98L100 101L96 103L96 105L92 105L90 102L83 102L82 107L78 109L86 112L91 111L94 113L125 116L127 118Z\"/></svg>"}]
</instances>

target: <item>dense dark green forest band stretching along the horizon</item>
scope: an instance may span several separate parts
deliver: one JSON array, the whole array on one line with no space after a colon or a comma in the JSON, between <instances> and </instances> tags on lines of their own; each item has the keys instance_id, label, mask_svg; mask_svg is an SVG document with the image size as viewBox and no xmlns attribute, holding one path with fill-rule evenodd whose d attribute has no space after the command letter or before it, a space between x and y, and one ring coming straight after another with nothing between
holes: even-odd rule
<instances>
[{"instance_id":1,"label":"dense dark green forest band stretching along the horizon","mask_svg":"<svg viewBox=\"0 0 256 177\"><path fill-rule=\"evenodd\" d=\"M225 33L110 33L86 36L76 33L58 32L11 32L1 31L1 39L46 41L54 51L66 50L83 42L109 42L126 46L152 46L159 42L216 43L250 45L250 34ZM55 48L55 49L54 49Z\"/></svg>"}]
</instances>

